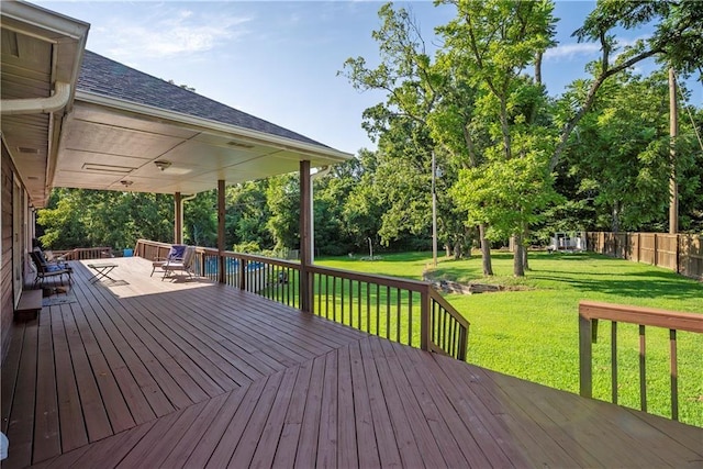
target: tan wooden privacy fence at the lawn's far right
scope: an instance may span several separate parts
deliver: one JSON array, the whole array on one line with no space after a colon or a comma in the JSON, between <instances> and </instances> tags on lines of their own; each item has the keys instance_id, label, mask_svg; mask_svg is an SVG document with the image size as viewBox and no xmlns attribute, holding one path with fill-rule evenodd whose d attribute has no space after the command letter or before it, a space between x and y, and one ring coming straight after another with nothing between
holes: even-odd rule
<instances>
[{"instance_id":1,"label":"tan wooden privacy fence at the lawn's far right","mask_svg":"<svg viewBox=\"0 0 703 469\"><path fill-rule=\"evenodd\" d=\"M703 238L694 234L588 232L588 249L703 280Z\"/></svg>"}]
</instances>

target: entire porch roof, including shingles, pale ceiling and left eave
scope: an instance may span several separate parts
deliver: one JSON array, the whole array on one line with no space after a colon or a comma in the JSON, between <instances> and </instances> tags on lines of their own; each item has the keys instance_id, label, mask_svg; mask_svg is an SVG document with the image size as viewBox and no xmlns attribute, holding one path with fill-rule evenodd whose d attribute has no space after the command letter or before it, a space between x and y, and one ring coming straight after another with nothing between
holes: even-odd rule
<instances>
[{"instance_id":1,"label":"entire porch roof, including shingles, pale ceiling and left eave","mask_svg":"<svg viewBox=\"0 0 703 469\"><path fill-rule=\"evenodd\" d=\"M86 51L79 20L1 9L2 146L35 208L55 187L187 194L353 157Z\"/></svg>"}]
</instances>

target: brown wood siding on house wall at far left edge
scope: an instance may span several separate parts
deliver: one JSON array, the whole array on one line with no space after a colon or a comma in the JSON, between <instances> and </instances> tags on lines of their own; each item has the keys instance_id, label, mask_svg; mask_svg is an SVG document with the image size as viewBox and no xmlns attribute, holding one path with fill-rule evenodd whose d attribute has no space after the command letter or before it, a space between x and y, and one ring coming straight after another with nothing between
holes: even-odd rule
<instances>
[{"instance_id":1,"label":"brown wood siding on house wall at far left edge","mask_svg":"<svg viewBox=\"0 0 703 469\"><path fill-rule=\"evenodd\" d=\"M10 346L10 332L12 330L12 314L14 310L12 294L12 185L13 166L4 145L2 145L1 163L1 190L0 196L2 214L2 265L0 266L0 301L2 313L0 314L0 331L2 331L2 347L0 362L4 362L8 347Z\"/></svg>"}]
</instances>

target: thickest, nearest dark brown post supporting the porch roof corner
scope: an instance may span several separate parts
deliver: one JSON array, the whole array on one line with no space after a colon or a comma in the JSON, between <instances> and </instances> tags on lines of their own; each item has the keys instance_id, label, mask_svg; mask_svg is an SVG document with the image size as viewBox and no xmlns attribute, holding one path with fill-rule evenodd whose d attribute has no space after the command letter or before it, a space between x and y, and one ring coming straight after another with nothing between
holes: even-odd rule
<instances>
[{"instance_id":1,"label":"thickest, nearest dark brown post supporting the porch roof corner","mask_svg":"<svg viewBox=\"0 0 703 469\"><path fill-rule=\"evenodd\" d=\"M310 161L300 161L300 309L312 312Z\"/></svg>"}]
</instances>

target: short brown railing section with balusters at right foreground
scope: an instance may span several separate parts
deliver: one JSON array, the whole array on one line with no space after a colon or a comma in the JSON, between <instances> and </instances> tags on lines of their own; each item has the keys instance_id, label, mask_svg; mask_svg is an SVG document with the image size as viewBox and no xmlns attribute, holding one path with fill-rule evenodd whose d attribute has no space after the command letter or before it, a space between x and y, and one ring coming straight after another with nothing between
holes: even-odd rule
<instances>
[{"instance_id":1,"label":"short brown railing section with balusters at right foreground","mask_svg":"<svg viewBox=\"0 0 703 469\"><path fill-rule=\"evenodd\" d=\"M610 303L581 301L579 303L579 375L580 393L593 394L593 349L598 338L598 321L611 321L611 383L612 402L617 404L617 324L629 323L639 326L639 401L647 412L647 376L645 328L669 330L669 358L671 383L671 418L679 420L679 372L677 362L677 331L703 333L703 314L680 313L650 308L627 306Z\"/></svg>"}]
</instances>

